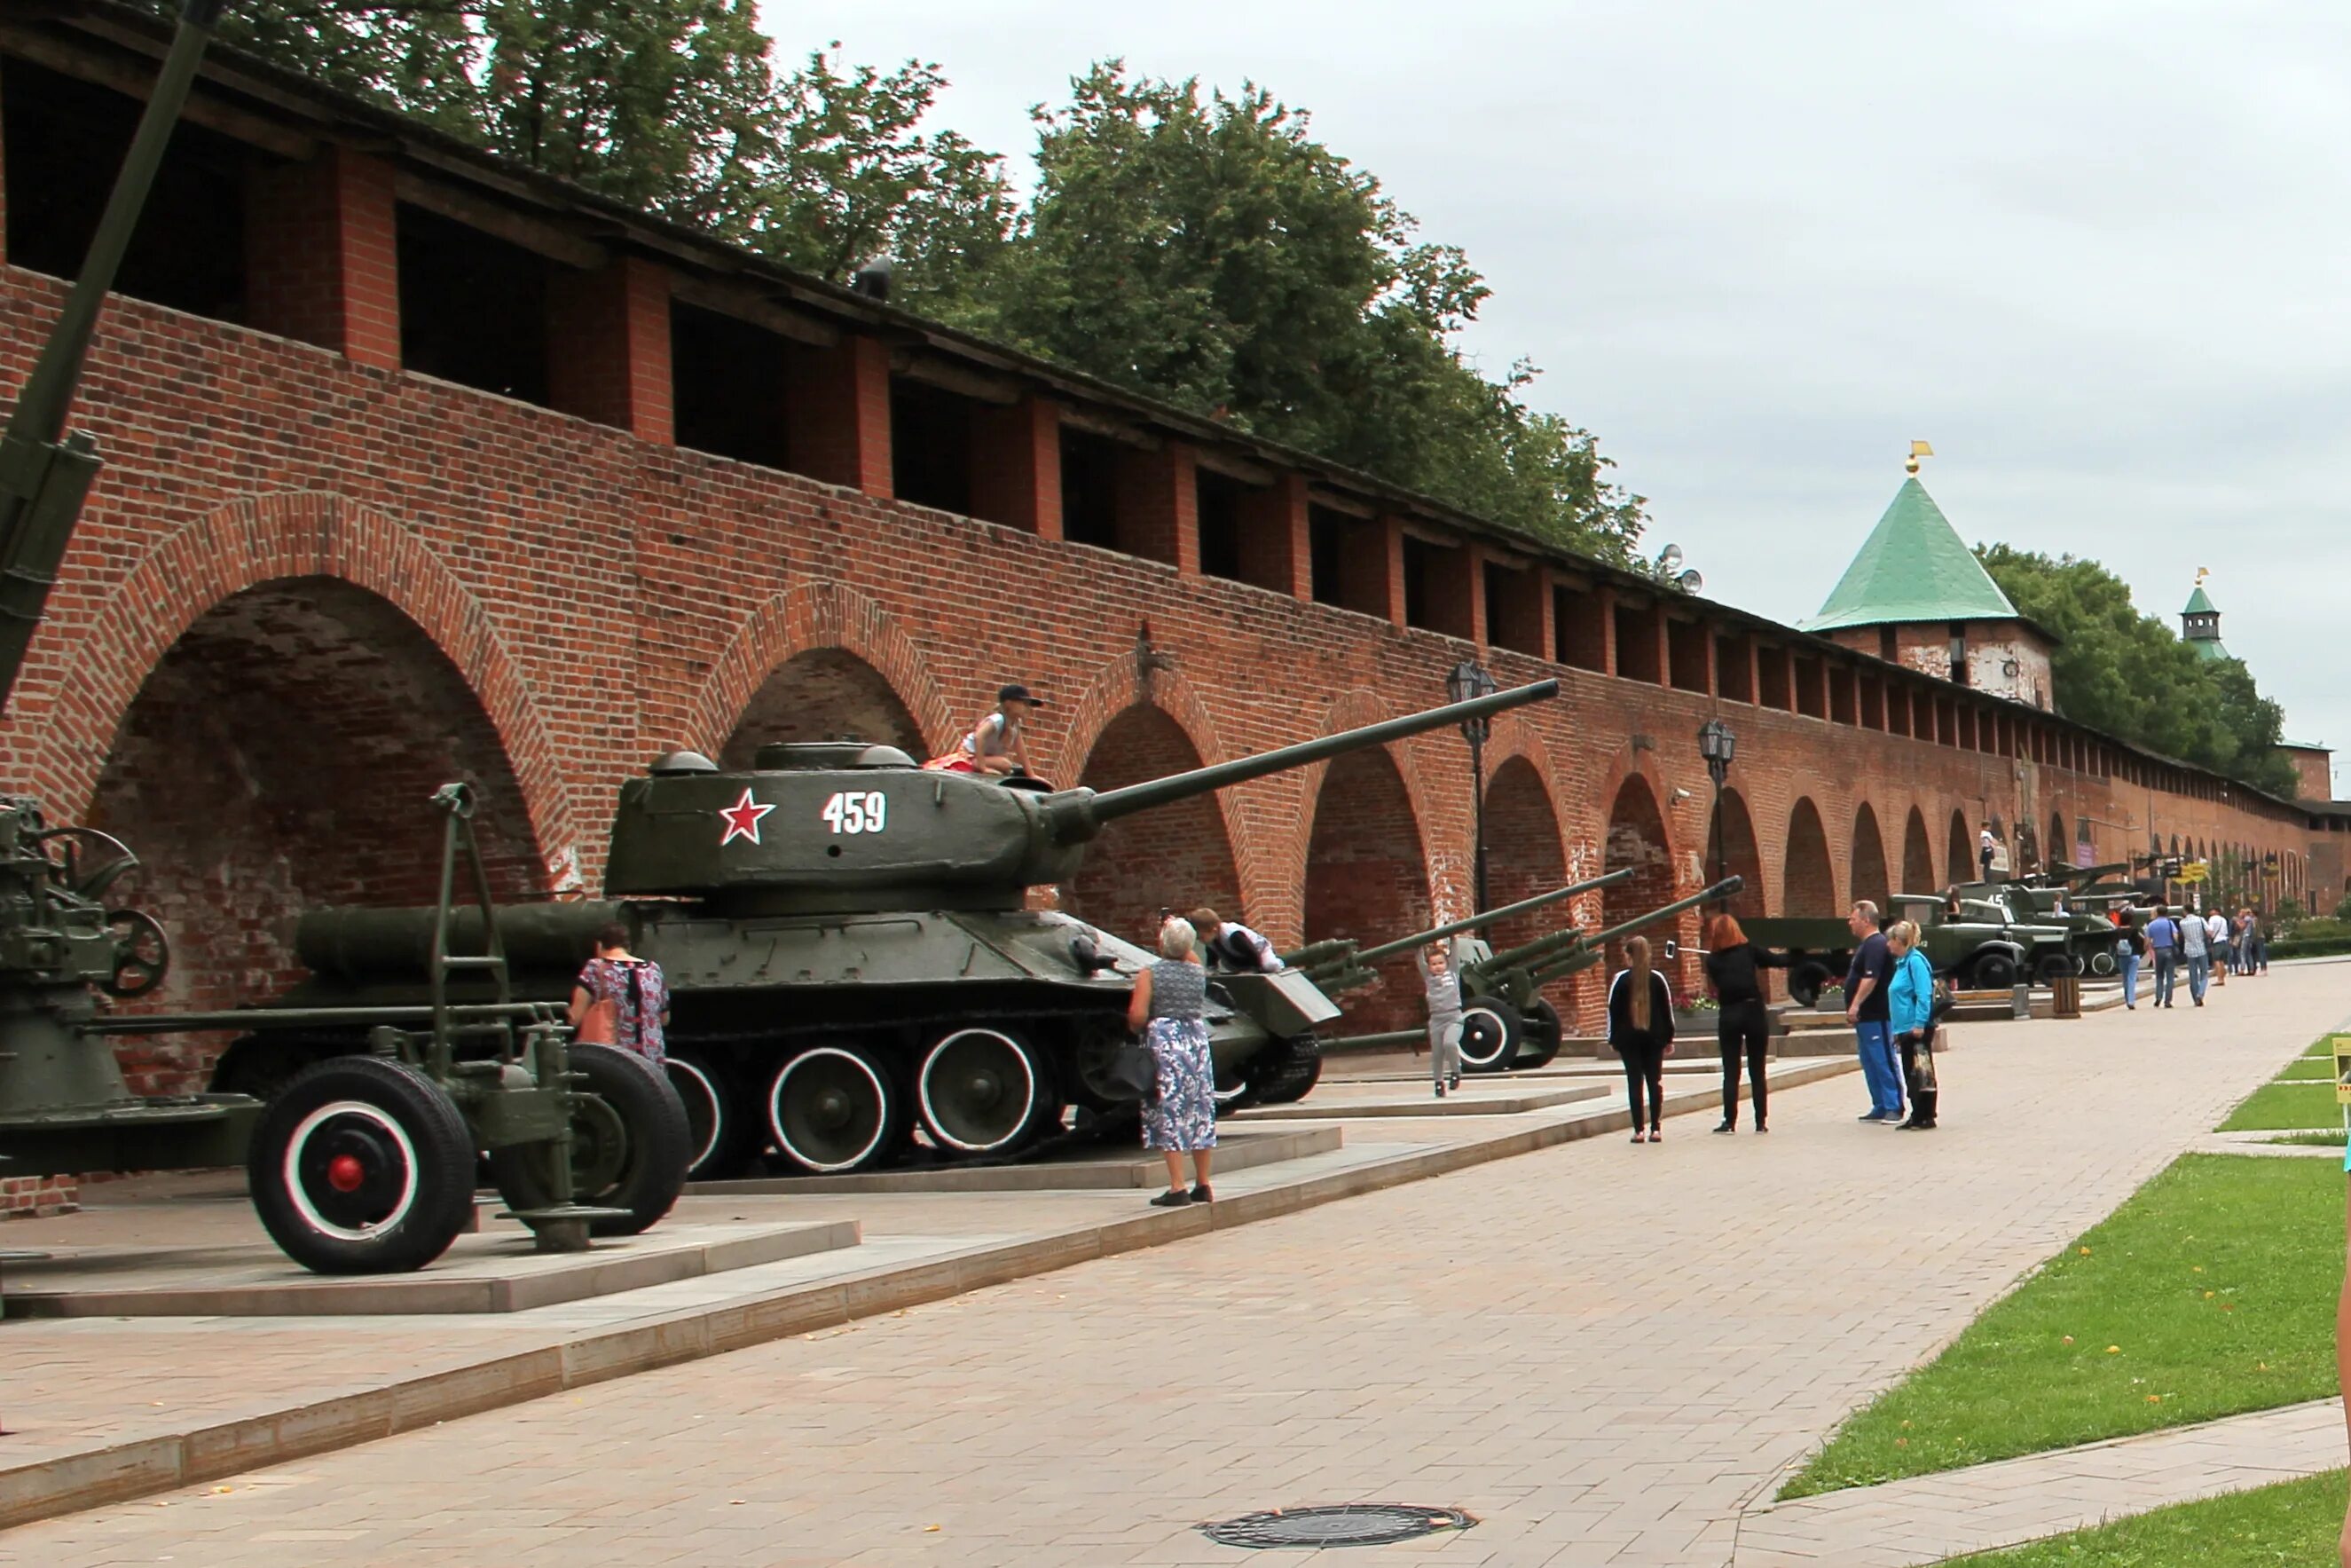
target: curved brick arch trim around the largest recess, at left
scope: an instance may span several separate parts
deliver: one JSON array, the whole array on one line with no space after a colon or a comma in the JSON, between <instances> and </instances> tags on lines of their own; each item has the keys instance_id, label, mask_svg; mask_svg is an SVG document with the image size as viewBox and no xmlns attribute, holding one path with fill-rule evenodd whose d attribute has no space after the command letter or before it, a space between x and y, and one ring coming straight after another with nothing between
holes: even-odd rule
<instances>
[{"instance_id":1,"label":"curved brick arch trim around the largest recess, at left","mask_svg":"<svg viewBox=\"0 0 2351 1568\"><path fill-rule=\"evenodd\" d=\"M336 578L407 616L456 665L489 715L550 879L576 870L583 832L562 759L529 677L505 651L482 599L416 534L322 491L233 501L174 531L146 552L59 656L80 679L59 684L33 778L68 806L66 820L89 811L122 719L172 644L212 607L282 578ZM602 825L585 837L602 839Z\"/></svg>"}]
</instances>

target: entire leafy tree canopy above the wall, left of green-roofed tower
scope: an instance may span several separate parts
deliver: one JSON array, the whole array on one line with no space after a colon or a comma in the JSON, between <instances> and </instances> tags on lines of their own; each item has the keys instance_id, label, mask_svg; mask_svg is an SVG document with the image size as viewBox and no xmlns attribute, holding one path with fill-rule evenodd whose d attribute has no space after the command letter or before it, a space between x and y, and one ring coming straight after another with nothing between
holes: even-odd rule
<instances>
[{"instance_id":1,"label":"entire leafy tree canopy above the wall, left of green-roofed tower","mask_svg":"<svg viewBox=\"0 0 2351 1568\"><path fill-rule=\"evenodd\" d=\"M176 0L143 0L172 12ZM1255 85L1117 61L1037 108L1039 186L929 129L945 75L778 75L755 0L240 0L228 42L444 132L1150 397L1632 564L1643 498L1592 433L1483 376L1488 296L1380 181Z\"/></svg>"}]
</instances>

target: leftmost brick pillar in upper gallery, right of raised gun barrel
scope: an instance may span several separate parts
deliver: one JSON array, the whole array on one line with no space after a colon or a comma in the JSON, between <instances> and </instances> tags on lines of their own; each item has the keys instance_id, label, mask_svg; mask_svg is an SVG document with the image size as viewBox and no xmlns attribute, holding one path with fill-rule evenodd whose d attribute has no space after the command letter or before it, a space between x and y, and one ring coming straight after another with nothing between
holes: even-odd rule
<instances>
[{"instance_id":1,"label":"leftmost brick pillar in upper gallery, right of raised gun barrel","mask_svg":"<svg viewBox=\"0 0 2351 1568\"><path fill-rule=\"evenodd\" d=\"M245 226L247 317L353 364L400 369L393 165L348 148L259 172Z\"/></svg>"}]
</instances>

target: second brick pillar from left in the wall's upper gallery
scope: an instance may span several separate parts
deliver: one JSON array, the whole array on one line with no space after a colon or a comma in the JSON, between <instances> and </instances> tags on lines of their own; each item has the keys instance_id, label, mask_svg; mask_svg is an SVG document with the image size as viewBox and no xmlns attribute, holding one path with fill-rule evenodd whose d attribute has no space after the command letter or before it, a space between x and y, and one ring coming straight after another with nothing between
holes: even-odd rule
<instances>
[{"instance_id":1,"label":"second brick pillar from left in the wall's upper gallery","mask_svg":"<svg viewBox=\"0 0 2351 1568\"><path fill-rule=\"evenodd\" d=\"M670 273L661 263L616 256L592 273L552 270L548 393L564 414L663 447L677 440L670 418Z\"/></svg>"}]
</instances>

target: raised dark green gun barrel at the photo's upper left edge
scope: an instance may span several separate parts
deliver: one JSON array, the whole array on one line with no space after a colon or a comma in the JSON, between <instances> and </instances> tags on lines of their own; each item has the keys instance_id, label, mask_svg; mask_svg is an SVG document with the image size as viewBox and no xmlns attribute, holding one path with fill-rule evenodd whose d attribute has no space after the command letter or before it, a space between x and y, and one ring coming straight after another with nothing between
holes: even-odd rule
<instances>
[{"instance_id":1,"label":"raised dark green gun barrel at the photo's upper left edge","mask_svg":"<svg viewBox=\"0 0 2351 1568\"><path fill-rule=\"evenodd\" d=\"M24 651L49 602L56 567L82 515L82 496L99 473L89 437L66 437L73 390L219 16L221 0L181 0L179 33L148 94L122 172L115 174L113 195L106 197L82 275L66 294L40 362L0 433L0 708L24 670Z\"/></svg>"}]
</instances>

